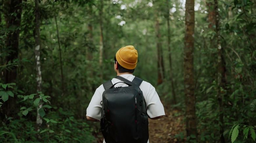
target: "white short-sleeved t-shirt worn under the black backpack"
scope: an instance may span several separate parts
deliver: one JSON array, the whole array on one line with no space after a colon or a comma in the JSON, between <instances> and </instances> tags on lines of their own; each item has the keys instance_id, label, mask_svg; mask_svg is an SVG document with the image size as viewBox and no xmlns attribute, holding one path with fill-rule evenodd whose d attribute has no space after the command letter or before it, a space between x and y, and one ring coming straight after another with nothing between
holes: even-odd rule
<instances>
[{"instance_id":1,"label":"white short-sleeved t-shirt worn under the black backpack","mask_svg":"<svg viewBox=\"0 0 256 143\"><path fill-rule=\"evenodd\" d=\"M126 78L129 81L132 81L135 76L132 74L122 74L120 75L124 78ZM119 79L113 78L111 80L113 84L117 82L121 82ZM124 83L118 83L115 85L115 87L127 87L128 85ZM143 96L146 101L146 106L147 106L147 114L150 118L155 118L158 116L163 116L165 115L163 104L160 101L160 98L156 92L155 87L153 87L150 83L142 81L142 83L139 86L140 90L143 92ZM86 110L86 116L92 117L94 119L100 120L101 118L101 110L102 110L102 105L100 102L102 101L102 93L105 91L103 85L100 85L93 97L91 102L89 103L89 106ZM103 141L105 143L105 141ZM148 141L149 143L149 141Z\"/></svg>"}]
</instances>

